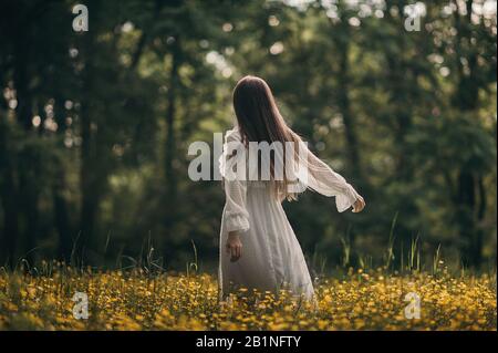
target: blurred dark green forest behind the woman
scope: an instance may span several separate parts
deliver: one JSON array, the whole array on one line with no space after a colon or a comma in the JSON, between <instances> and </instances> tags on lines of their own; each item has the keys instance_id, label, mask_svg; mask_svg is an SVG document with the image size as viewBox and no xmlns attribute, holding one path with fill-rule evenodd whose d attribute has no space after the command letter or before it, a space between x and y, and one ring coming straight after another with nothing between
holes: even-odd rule
<instances>
[{"instance_id":1,"label":"blurred dark green forest behind the woman","mask_svg":"<svg viewBox=\"0 0 498 353\"><path fill-rule=\"evenodd\" d=\"M83 32L77 3L1 2L0 266L212 271L225 196L187 148L253 74L367 203L286 203L314 273L496 268L496 1L85 0Z\"/></svg>"}]
</instances>

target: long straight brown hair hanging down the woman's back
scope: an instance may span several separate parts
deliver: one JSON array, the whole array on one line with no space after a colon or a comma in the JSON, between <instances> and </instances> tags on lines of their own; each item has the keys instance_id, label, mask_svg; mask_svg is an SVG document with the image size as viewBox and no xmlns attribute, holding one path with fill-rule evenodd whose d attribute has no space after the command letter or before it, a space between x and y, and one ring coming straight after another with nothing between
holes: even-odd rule
<instances>
[{"instance_id":1,"label":"long straight brown hair hanging down the woman's back","mask_svg":"<svg viewBox=\"0 0 498 353\"><path fill-rule=\"evenodd\" d=\"M269 144L280 142L284 148L286 142L299 143L300 137L287 126L264 80L250 75L239 80L234 90L234 108L246 146L249 142ZM283 180L274 179L274 158L270 160L270 174L276 195L280 198L295 199L295 195L288 191L290 181L286 177L286 172Z\"/></svg>"}]
</instances>

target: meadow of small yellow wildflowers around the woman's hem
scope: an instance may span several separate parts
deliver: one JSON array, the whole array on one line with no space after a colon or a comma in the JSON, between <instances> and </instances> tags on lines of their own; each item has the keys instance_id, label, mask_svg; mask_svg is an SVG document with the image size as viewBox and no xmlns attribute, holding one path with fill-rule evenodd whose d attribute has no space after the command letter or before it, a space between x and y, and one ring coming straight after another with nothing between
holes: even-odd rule
<instances>
[{"instance_id":1,"label":"meadow of small yellow wildflowers around the woman's hem","mask_svg":"<svg viewBox=\"0 0 498 353\"><path fill-rule=\"evenodd\" d=\"M55 261L30 272L0 273L0 330L497 330L495 273L350 269L318 279L313 304L247 289L219 303L207 273L82 271ZM87 295L87 319L73 314L76 292ZM419 319L406 315L408 293L419 299Z\"/></svg>"}]
</instances>

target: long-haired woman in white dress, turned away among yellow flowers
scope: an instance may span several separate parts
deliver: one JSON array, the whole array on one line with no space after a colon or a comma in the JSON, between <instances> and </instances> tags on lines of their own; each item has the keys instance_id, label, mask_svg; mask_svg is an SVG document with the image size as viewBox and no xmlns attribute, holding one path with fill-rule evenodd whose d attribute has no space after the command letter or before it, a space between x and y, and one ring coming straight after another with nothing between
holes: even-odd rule
<instances>
[{"instance_id":1,"label":"long-haired woman in white dress, turned away among yellow flowers","mask_svg":"<svg viewBox=\"0 0 498 353\"><path fill-rule=\"evenodd\" d=\"M350 207L359 212L365 201L286 125L263 80L241 79L234 91L234 108L237 125L227 132L220 157L226 194L220 232L220 299L243 287L274 293L287 289L293 295L312 300L311 277L281 201L295 199L305 188L335 196L341 212ZM258 143L263 147L283 147L274 148L267 157L260 152L255 158L251 152ZM268 172L264 166L269 167L269 178L263 177Z\"/></svg>"}]
</instances>

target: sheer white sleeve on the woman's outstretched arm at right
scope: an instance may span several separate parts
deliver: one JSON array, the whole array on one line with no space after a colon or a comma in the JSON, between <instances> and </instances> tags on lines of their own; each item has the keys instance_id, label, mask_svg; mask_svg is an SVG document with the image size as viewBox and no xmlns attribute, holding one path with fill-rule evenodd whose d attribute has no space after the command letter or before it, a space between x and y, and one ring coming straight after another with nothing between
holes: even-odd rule
<instances>
[{"instance_id":1,"label":"sheer white sleeve on the woman's outstretched arm at right","mask_svg":"<svg viewBox=\"0 0 498 353\"><path fill-rule=\"evenodd\" d=\"M335 206L340 212L353 206L359 198L356 190L340 174L309 150L304 143L301 143L299 148L304 149L304 165L308 172L303 184L324 196L335 196ZM302 155L300 159L303 160Z\"/></svg>"}]
</instances>

